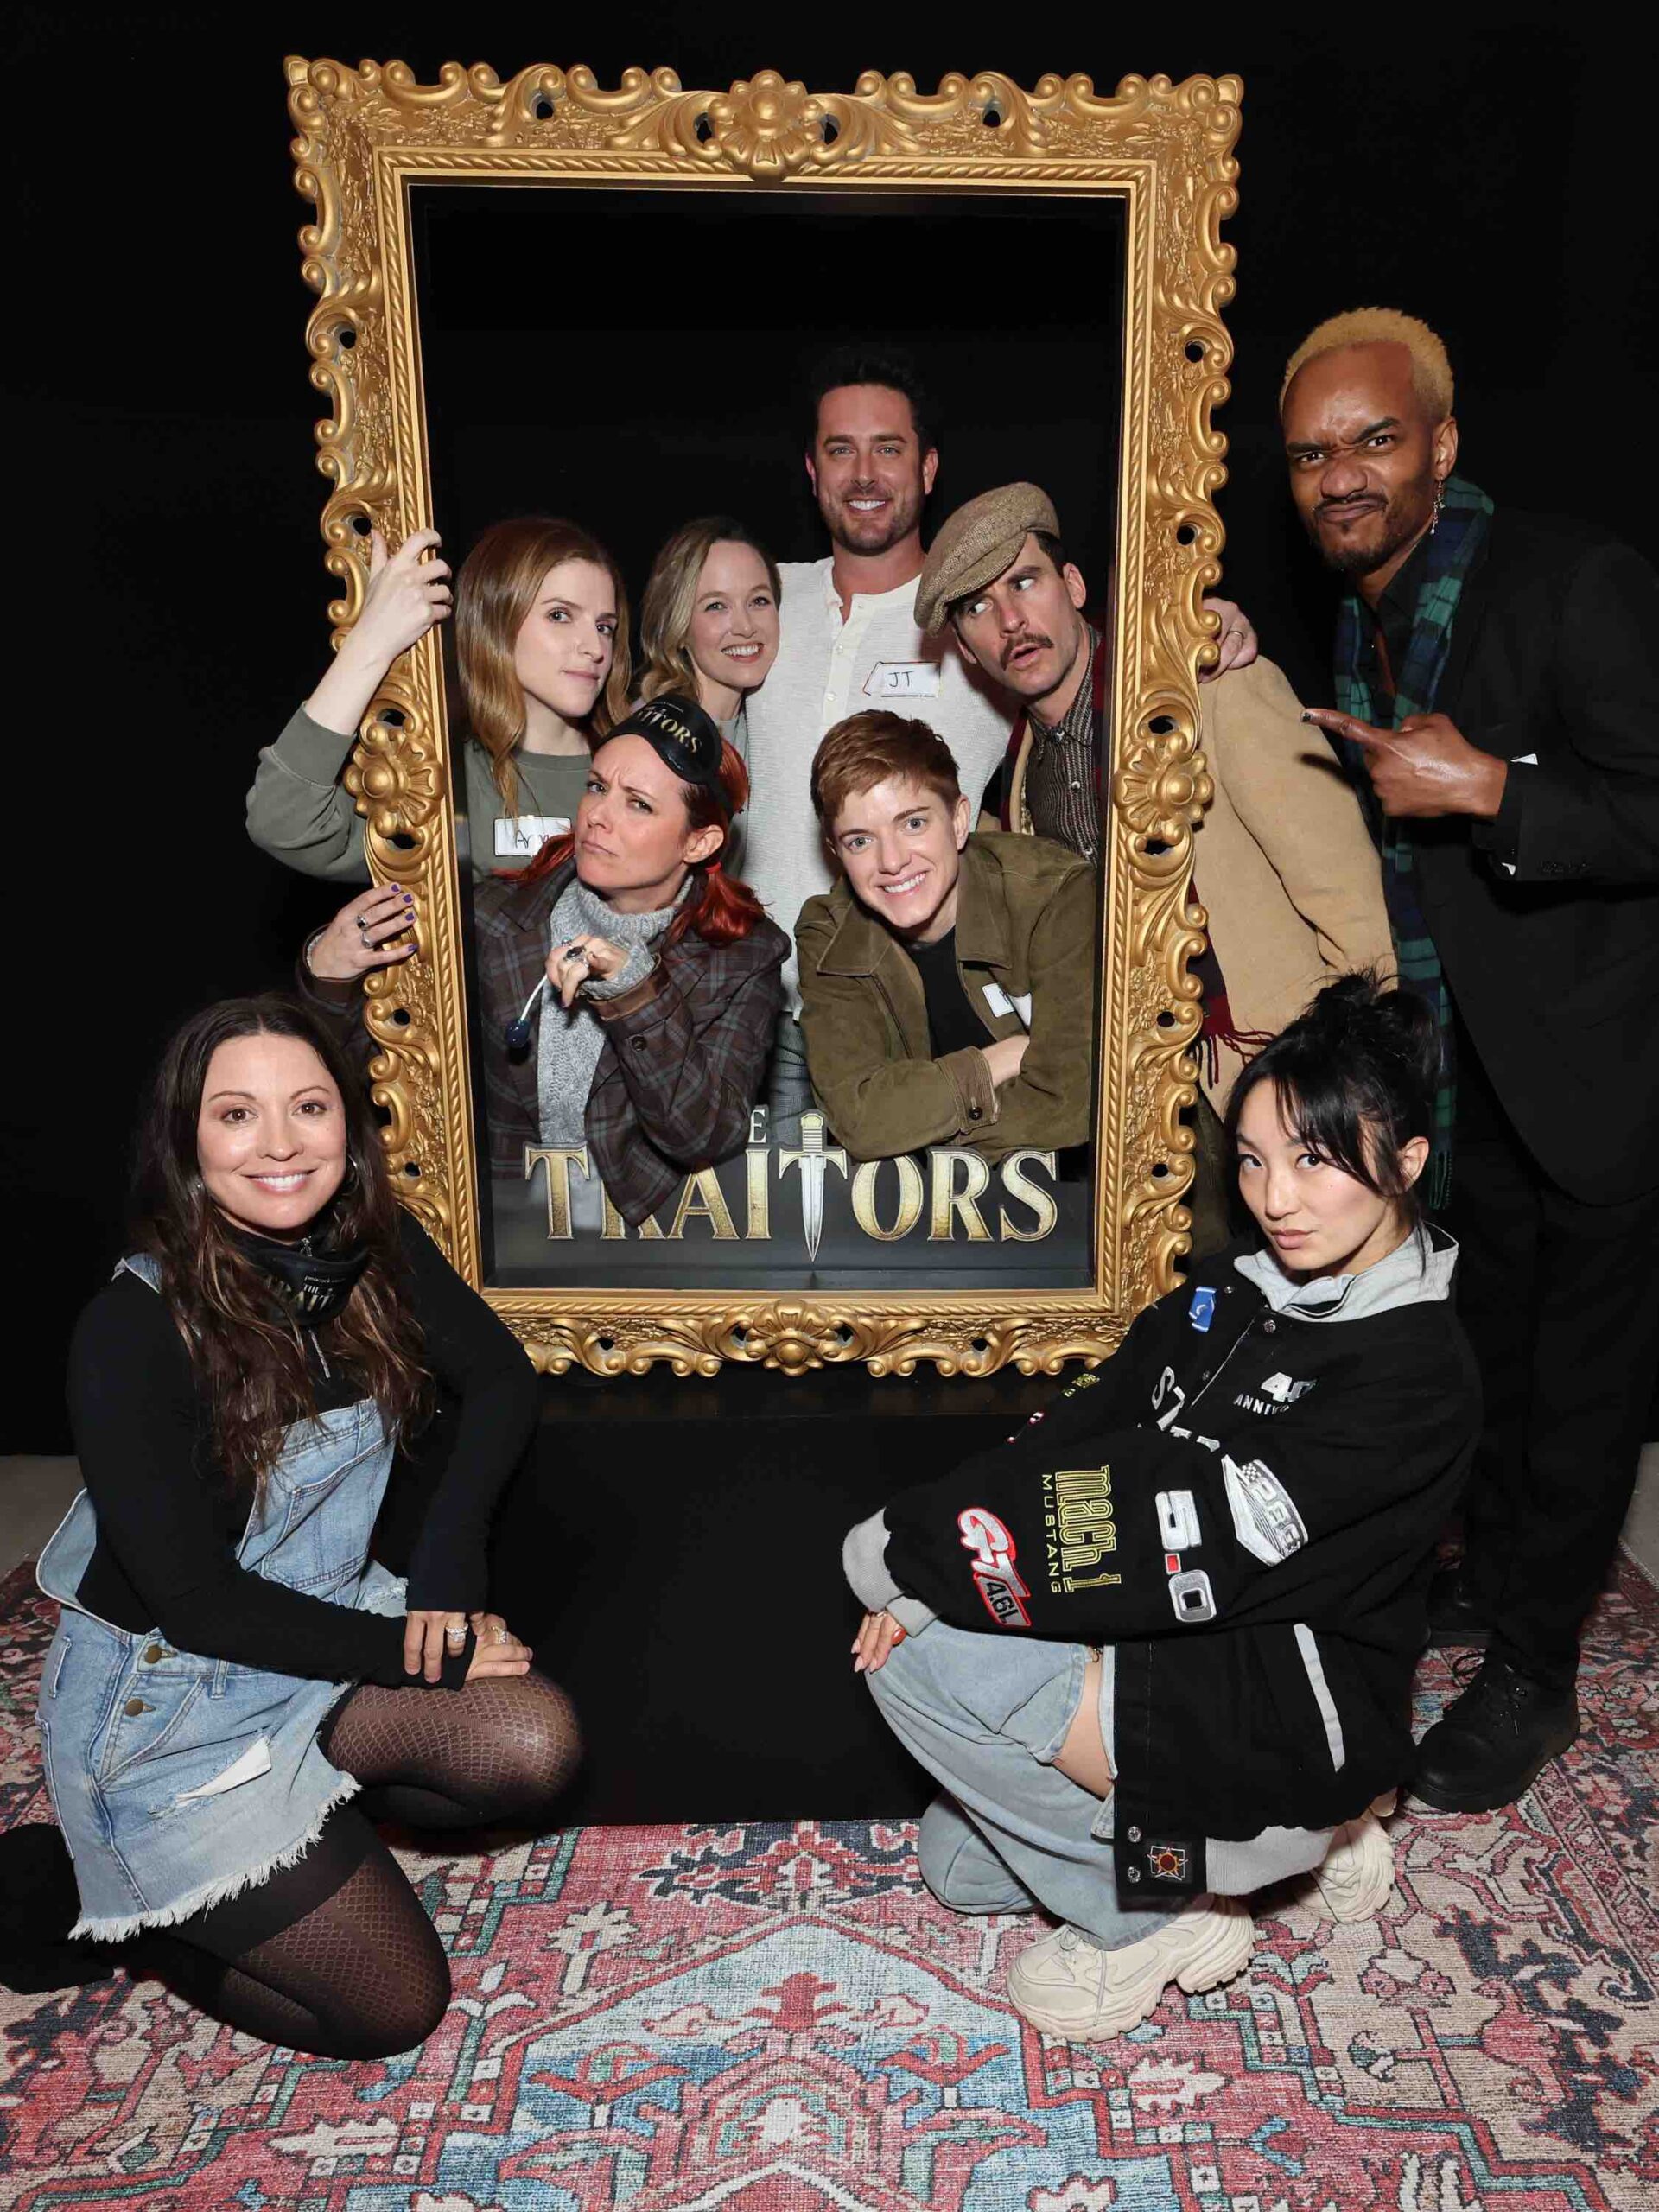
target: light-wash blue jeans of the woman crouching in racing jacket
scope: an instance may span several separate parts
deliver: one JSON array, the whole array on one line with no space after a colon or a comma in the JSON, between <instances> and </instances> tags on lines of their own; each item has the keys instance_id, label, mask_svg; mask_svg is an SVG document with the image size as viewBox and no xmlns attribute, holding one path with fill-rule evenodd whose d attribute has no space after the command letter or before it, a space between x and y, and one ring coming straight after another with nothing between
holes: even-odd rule
<instances>
[{"instance_id":1,"label":"light-wash blue jeans of the woman crouching in racing jacket","mask_svg":"<svg viewBox=\"0 0 1659 2212\"><path fill-rule=\"evenodd\" d=\"M1117 1902L1113 1798L1097 1798L1053 1763L1086 1661L1082 1644L969 1635L931 1621L867 1681L898 1741L949 1792L929 1805L916 1843L922 1880L940 1905L960 1913L1040 1905L1102 1951L1117 1951L1168 1927L1186 1905L1161 1913ZM1110 1648L1099 1734L1110 1759ZM1210 1889L1248 1896L1323 1865L1327 1849L1329 1829L1270 1827L1248 1843L1210 1843Z\"/></svg>"}]
</instances>

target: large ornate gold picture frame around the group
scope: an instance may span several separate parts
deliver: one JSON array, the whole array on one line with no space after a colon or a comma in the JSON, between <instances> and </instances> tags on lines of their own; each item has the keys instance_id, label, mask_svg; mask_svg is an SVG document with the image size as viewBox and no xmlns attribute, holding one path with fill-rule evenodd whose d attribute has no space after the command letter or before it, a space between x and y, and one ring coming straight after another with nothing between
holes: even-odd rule
<instances>
[{"instance_id":1,"label":"large ornate gold picture frame around the group","mask_svg":"<svg viewBox=\"0 0 1659 2212\"><path fill-rule=\"evenodd\" d=\"M301 230L334 637L356 619L367 529L389 542L431 522L409 257L411 181L617 184L812 192L1068 192L1126 206L1121 487L1110 867L1102 940L1095 1287L734 1296L730 1292L491 1290L544 1369L714 1374L863 1360L909 1374L1026 1374L1099 1358L1168 1290L1188 1250L1197 1095L1192 1048L1203 938L1188 905L1192 827L1210 799L1197 750L1197 668L1214 648L1201 597L1219 577L1225 438L1212 425L1232 358L1221 310L1237 206L1237 77L1088 77L1031 91L995 71L920 93L902 73L810 93L776 71L686 91L628 69L538 64L502 82L456 62L418 84L403 62L290 58ZM367 980L376 1099L394 1181L456 1267L480 1281L478 1166L467 1079L460 885L438 646L422 639L376 695L347 770L374 878L416 894L418 958Z\"/></svg>"}]
</instances>

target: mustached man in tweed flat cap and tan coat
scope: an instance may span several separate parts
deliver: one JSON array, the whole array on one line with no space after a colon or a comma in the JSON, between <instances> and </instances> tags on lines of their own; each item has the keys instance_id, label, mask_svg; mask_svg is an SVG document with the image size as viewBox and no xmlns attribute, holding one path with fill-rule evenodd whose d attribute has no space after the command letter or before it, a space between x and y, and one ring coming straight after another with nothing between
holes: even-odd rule
<instances>
[{"instance_id":1,"label":"mustached man in tweed flat cap and tan coat","mask_svg":"<svg viewBox=\"0 0 1659 2212\"><path fill-rule=\"evenodd\" d=\"M1060 515L1037 484L1002 484L958 507L916 588L920 628L949 624L1011 692L1009 750L980 827L1046 836L1099 863L1113 648L1084 606ZM1327 971L1391 967L1394 949L1360 810L1272 661L1228 668L1199 690L1199 743L1214 779L1192 874L1210 918L1199 1064L1221 1115L1248 1053L1303 1011ZM1219 1124L1201 1115L1199 1139L1214 1175Z\"/></svg>"}]
</instances>

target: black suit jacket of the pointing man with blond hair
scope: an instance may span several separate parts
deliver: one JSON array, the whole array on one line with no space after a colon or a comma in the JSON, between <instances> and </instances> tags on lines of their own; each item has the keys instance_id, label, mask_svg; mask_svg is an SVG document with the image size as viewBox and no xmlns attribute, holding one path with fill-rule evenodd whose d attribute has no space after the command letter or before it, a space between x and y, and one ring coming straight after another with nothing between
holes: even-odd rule
<instances>
[{"instance_id":1,"label":"black suit jacket of the pointing man with blond hair","mask_svg":"<svg viewBox=\"0 0 1659 2212\"><path fill-rule=\"evenodd\" d=\"M1413 823L1422 911L1504 1108L1575 1199L1659 1183L1659 573L1500 509L1436 708L1511 763L1493 823Z\"/></svg>"}]
</instances>

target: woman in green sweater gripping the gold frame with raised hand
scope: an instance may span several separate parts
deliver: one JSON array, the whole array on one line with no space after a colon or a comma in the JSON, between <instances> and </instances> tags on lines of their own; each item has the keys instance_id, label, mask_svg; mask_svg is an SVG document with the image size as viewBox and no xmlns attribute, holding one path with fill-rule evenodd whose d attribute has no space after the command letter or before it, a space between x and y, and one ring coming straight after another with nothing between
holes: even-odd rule
<instances>
[{"instance_id":1,"label":"woman in green sweater gripping the gold frame with raised hand","mask_svg":"<svg viewBox=\"0 0 1659 2212\"><path fill-rule=\"evenodd\" d=\"M367 883L363 816L341 774L387 670L447 619L438 531L396 553L374 533L363 613L312 697L259 754L248 836L305 876ZM493 522L456 584L467 714L458 805L473 874L524 867L575 821L593 743L628 710L628 599L617 564L575 522Z\"/></svg>"}]
</instances>

